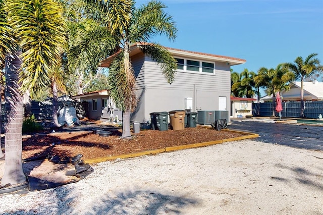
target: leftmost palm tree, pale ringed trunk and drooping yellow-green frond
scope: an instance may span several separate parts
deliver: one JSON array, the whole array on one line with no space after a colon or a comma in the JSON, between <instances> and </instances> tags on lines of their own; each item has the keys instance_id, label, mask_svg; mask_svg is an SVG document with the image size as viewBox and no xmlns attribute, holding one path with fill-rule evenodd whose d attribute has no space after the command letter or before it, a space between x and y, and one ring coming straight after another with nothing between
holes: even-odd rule
<instances>
[{"instance_id":1,"label":"leftmost palm tree, pale ringed trunk and drooping yellow-green frond","mask_svg":"<svg viewBox=\"0 0 323 215\"><path fill-rule=\"evenodd\" d=\"M50 77L60 65L60 47L64 43L62 7L52 0L7 0L11 35L17 47L6 48L6 166L1 181L19 184L26 181L22 170L22 94L48 86ZM21 55L19 50L23 50ZM22 68L22 69L20 69ZM21 84L21 86L20 86Z\"/></svg>"}]
</instances>

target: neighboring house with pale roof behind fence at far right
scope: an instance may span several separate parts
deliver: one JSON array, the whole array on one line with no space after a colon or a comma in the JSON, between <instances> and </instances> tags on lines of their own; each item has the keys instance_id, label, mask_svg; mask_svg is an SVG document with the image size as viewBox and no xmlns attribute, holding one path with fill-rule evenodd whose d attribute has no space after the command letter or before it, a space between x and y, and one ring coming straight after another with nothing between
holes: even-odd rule
<instances>
[{"instance_id":1,"label":"neighboring house with pale roof behind fence at far right","mask_svg":"<svg viewBox=\"0 0 323 215\"><path fill-rule=\"evenodd\" d=\"M323 100L323 82L304 81L304 100L318 101ZM281 93L282 101L300 101L301 100L301 82L296 81L291 84L290 90ZM264 101L271 101L272 96L262 97Z\"/></svg>"}]
</instances>

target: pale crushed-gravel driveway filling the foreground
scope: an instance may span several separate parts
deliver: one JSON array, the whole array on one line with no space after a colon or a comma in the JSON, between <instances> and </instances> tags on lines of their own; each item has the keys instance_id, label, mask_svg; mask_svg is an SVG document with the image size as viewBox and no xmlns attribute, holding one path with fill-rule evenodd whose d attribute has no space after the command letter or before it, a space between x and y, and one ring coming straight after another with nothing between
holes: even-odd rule
<instances>
[{"instance_id":1,"label":"pale crushed-gravel driveway filling the foreground","mask_svg":"<svg viewBox=\"0 0 323 215\"><path fill-rule=\"evenodd\" d=\"M323 214L323 152L253 140L92 165L1 214Z\"/></svg>"}]
</instances>

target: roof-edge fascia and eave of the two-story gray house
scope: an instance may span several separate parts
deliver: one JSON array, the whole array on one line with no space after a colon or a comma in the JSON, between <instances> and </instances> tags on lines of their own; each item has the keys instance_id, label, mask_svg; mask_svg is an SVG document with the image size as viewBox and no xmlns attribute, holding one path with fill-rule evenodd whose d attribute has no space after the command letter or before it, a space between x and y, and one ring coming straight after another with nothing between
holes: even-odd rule
<instances>
[{"instance_id":1,"label":"roof-edge fascia and eave of the two-story gray house","mask_svg":"<svg viewBox=\"0 0 323 215\"><path fill-rule=\"evenodd\" d=\"M135 49L139 49L140 44L149 44L149 43L139 43L138 42L138 43L131 46L131 51L133 51ZM246 60L239 59L239 58L232 58L232 57L220 56L220 55L212 55L212 54L208 54L208 53L202 53L202 52L196 52L196 51L187 51L187 50L182 50L182 49L177 49L177 48L170 48L170 47L165 47L165 48L167 48L171 53L176 54L178 56L191 57L191 58L195 57L197 59L205 59L205 60L209 60L209 61L220 61L220 62L229 63L231 66L246 63ZM100 66L109 68L111 62L115 59L115 57L120 52L121 52L121 50L114 53L114 55L106 58L104 61L101 62ZM137 52L138 51L135 51L135 53L137 53ZM130 52L130 56L133 56L135 53Z\"/></svg>"}]
</instances>

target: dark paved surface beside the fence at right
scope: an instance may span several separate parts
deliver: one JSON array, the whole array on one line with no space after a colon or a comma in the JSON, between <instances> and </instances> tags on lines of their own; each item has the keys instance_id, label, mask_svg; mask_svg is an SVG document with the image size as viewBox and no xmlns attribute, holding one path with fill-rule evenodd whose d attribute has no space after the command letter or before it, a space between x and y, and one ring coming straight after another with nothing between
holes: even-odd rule
<instances>
[{"instance_id":1,"label":"dark paved surface beside the fence at right","mask_svg":"<svg viewBox=\"0 0 323 215\"><path fill-rule=\"evenodd\" d=\"M273 120L231 120L230 129L259 134L256 141L323 151L323 126L274 123Z\"/></svg>"}]
</instances>

